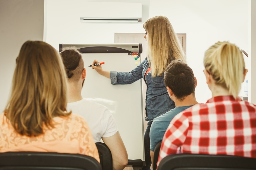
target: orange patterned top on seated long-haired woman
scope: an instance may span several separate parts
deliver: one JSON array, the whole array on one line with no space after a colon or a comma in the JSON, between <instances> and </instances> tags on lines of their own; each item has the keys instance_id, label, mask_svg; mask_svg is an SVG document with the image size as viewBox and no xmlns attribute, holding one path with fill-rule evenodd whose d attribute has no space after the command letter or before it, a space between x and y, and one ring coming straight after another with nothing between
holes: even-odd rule
<instances>
[{"instance_id":1,"label":"orange patterned top on seated long-haired woman","mask_svg":"<svg viewBox=\"0 0 256 170\"><path fill-rule=\"evenodd\" d=\"M55 128L44 128L44 134L28 137L18 134L0 114L0 152L58 152L92 156L100 162L99 153L89 126L84 118L71 114L54 117Z\"/></svg>"}]
</instances>

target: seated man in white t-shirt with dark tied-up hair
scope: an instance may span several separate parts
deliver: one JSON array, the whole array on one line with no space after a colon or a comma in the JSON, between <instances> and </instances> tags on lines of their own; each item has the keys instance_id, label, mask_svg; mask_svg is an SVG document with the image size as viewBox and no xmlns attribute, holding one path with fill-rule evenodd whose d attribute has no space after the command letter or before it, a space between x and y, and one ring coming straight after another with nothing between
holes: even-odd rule
<instances>
[{"instance_id":1,"label":"seated man in white t-shirt with dark tied-up hair","mask_svg":"<svg viewBox=\"0 0 256 170\"><path fill-rule=\"evenodd\" d=\"M108 108L83 99L81 95L86 75L81 53L74 48L68 48L63 50L60 55L68 76L67 111L84 117L92 131L94 142L100 142L102 139L109 147L114 170L125 168L128 163L127 151L114 117Z\"/></svg>"}]
</instances>

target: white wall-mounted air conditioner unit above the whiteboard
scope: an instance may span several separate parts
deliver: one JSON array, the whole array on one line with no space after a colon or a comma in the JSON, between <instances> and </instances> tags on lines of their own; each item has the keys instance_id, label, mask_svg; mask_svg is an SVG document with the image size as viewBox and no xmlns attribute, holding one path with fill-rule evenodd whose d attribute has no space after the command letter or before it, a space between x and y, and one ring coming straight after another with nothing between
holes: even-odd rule
<instances>
[{"instance_id":1,"label":"white wall-mounted air conditioner unit above the whiteboard","mask_svg":"<svg viewBox=\"0 0 256 170\"><path fill-rule=\"evenodd\" d=\"M87 2L81 23L138 23L142 4L133 2Z\"/></svg>"}]
</instances>

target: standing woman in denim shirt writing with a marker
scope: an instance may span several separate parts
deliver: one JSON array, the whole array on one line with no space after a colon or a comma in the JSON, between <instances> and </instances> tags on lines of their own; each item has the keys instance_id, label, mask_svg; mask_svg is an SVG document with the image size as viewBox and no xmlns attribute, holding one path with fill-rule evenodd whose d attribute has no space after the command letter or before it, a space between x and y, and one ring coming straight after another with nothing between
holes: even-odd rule
<instances>
[{"instance_id":1,"label":"standing woman in denim shirt writing with a marker","mask_svg":"<svg viewBox=\"0 0 256 170\"><path fill-rule=\"evenodd\" d=\"M148 19L143 28L146 31L144 38L147 41L147 58L131 72L105 71L101 65L93 66L99 74L111 79L111 83L130 84L141 78L147 84L146 117L147 129L144 134L145 162L144 170L149 170L150 138L149 132L154 118L175 108L163 82L164 71L172 60L185 61L185 55L179 39L167 17L156 16ZM93 64L99 63L94 60Z\"/></svg>"}]
</instances>

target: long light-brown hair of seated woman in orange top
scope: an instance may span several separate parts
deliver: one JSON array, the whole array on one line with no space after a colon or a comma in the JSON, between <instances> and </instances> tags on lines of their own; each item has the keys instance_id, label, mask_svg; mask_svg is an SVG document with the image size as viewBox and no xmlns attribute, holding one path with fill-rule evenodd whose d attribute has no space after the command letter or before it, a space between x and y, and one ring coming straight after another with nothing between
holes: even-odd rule
<instances>
[{"instance_id":1,"label":"long light-brown hair of seated woman in orange top","mask_svg":"<svg viewBox=\"0 0 256 170\"><path fill-rule=\"evenodd\" d=\"M43 41L26 41L16 59L11 97L5 115L21 135L43 134L52 118L68 116L67 80L58 52Z\"/></svg>"}]
</instances>

